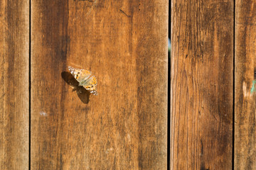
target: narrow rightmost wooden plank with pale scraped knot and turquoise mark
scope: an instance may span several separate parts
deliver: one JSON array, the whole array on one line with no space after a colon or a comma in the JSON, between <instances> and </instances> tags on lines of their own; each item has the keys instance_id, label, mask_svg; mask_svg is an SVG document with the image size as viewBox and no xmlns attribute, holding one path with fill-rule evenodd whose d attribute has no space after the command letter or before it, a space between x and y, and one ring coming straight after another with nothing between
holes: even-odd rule
<instances>
[{"instance_id":1,"label":"narrow rightmost wooden plank with pale scraped knot and turquoise mark","mask_svg":"<svg viewBox=\"0 0 256 170\"><path fill-rule=\"evenodd\" d=\"M255 3L235 4L235 169L256 169Z\"/></svg>"}]
</instances>

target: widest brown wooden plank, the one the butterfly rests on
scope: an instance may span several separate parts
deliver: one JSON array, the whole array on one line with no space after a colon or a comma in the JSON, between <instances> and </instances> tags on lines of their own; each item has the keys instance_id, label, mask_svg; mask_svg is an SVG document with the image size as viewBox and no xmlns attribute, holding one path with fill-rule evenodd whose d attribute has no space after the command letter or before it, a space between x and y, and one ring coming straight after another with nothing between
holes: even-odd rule
<instances>
[{"instance_id":1,"label":"widest brown wooden plank, the one the butterfly rests on","mask_svg":"<svg viewBox=\"0 0 256 170\"><path fill-rule=\"evenodd\" d=\"M31 169L166 168L167 4L32 1Z\"/></svg>"}]
</instances>

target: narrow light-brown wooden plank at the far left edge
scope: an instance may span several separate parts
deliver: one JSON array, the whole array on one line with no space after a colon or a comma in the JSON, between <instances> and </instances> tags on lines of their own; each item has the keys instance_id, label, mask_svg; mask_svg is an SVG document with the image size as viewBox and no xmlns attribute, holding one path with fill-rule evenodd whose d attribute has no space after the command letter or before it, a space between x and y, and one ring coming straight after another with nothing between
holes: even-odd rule
<instances>
[{"instance_id":1,"label":"narrow light-brown wooden plank at the far left edge","mask_svg":"<svg viewBox=\"0 0 256 170\"><path fill-rule=\"evenodd\" d=\"M0 9L0 169L28 169L29 1Z\"/></svg>"}]
</instances>

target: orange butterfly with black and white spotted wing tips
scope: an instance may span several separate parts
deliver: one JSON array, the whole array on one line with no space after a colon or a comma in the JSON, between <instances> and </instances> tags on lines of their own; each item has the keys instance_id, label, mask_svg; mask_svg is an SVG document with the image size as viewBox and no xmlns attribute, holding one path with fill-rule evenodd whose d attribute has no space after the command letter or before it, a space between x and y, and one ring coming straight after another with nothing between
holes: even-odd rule
<instances>
[{"instance_id":1,"label":"orange butterfly with black and white spotted wing tips","mask_svg":"<svg viewBox=\"0 0 256 170\"><path fill-rule=\"evenodd\" d=\"M75 69L73 67L68 67L70 73L79 82L78 86L83 86L91 94L97 95L97 79L95 76L91 76L92 73L86 69Z\"/></svg>"}]
</instances>

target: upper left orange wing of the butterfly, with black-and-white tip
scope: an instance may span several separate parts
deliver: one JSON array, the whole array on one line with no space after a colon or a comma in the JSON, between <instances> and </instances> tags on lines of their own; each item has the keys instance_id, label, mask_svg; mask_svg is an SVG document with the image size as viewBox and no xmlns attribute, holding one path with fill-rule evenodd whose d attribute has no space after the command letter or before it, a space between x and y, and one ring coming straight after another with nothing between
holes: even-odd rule
<instances>
[{"instance_id":1,"label":"upper left orange wing of the butterfly, with black-and-white tip","mask_svg":"<svg viewBox=\"0 0 256 170\"><path fill-rule=\"evenodd\" d=\"M80 83L80 86L82 86L81 82L85 81L90 77L92 74L90 71L86 69L75 69L73 67L68 67L70 73L75 77L75 79Z\"/></svg>"}]
</instances>

